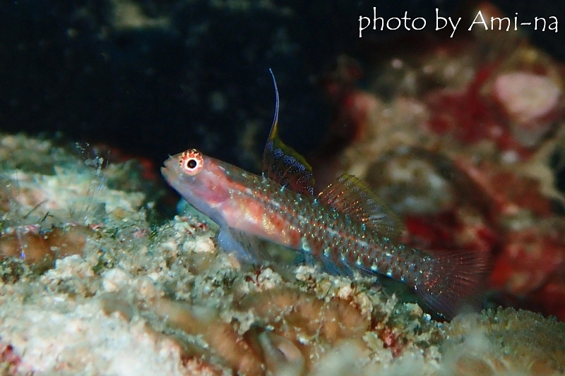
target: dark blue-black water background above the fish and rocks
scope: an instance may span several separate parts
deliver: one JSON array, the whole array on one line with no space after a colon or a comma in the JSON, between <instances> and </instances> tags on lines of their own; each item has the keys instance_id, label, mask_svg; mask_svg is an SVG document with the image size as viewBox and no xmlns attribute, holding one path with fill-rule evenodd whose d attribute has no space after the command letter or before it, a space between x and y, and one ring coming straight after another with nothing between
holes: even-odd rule
<instances>
[{"instance_id":1,"label":"dark blue-black water background above the fish and rocks","mask_svg":"<svg viewBox=\"0 0 565 376\"><path fill-rule=\"evenodd\" d=\"M156 166L167 154L198 147L256 170L275 104L268 68L280 90L283 138L307 153L319 145L330 122L319 80L336 57L362 60L379 54L374 46L380 42L405 37L400 31L371 32L359 40L359 16L371 16L377 6L379 16L408 11L430 25L436 7L443 16L456 16L475 5L449 0L1 1L0 130L60 132L69 140L103 142L147 157ZM516 11L530 18L557 16L565 28L562 1L500 0L496 5L511 16ZM116 16L117 9L128 6L143 16L135 27L124 27ZM562 61L564 35L565 29L530 37Z\"/></svg>"}]
</instances>

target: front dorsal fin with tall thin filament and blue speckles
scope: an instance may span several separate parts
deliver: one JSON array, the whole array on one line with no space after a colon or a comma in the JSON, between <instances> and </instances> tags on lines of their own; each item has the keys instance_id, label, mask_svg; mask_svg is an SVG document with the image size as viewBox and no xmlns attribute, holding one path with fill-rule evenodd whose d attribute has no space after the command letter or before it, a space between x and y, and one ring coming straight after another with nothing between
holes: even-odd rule
<instances>
[{"instance_id":1,"label":"front dorsal fin with tall thin filament and blue speckles","mask_svg":"<svg viewBox=\"0 0 565 376\"><path fill-rule=\"evenodd\" d=\"M273 71L270 71L270 74L273 75ZM278 137L279 99L274 75L273 83L276 95L275 119L273 119L273 126L270 127L263 152L263 176L297 193L313 195L314 175L311 166L302 155L295 152L292 147L285 145Z\"/></svg>"}]
</instances>

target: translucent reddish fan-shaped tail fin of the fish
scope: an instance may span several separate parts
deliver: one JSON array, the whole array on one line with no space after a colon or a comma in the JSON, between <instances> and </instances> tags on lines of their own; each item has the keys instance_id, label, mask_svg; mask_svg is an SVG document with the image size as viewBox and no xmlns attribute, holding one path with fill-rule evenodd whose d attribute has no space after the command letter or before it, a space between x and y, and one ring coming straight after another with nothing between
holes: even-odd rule
<instances>
[{"instance_id":1,"label":"translucent reddish fan-shaped tail fin of the fish","mask_svg":"<svg viewBox=\"0 0 565 376\"><path fill-rule=\"evenodd\" d=\"M417 294L451 320L465 308L480 308L489 274L489 255L470 251L427 252L429 272L415 284Z\"/></svg>"}]
</instances>

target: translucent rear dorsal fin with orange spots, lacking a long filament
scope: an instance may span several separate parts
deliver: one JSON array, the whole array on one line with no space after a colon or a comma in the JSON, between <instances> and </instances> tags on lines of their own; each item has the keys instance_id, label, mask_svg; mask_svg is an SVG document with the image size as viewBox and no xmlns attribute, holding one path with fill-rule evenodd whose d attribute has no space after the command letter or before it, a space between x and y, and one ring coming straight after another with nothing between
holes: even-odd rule
<instances>
[{"instance_id":1,"label":"translucent rear dorsal fin with orange spots, lacking a long filament","mask_svg":"<svg viewBox=\"0 0 565 376\"><path fill-rule=\"evenodd\" d=\"M343 174L319 194L319 200L349 215L353 221L362 222L380 236L396 238L404 229L396 214L355 176Z\"/></svg>"}]
</instances>

